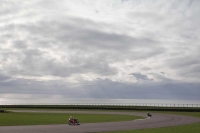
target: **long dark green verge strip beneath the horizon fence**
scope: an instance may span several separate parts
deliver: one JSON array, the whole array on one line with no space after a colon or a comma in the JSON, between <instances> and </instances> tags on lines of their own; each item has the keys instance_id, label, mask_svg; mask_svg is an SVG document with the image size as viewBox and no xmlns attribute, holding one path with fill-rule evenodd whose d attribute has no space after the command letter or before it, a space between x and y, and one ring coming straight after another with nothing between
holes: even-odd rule
<instances>
[{"instance_id":1,"label":"long dark green verge strip beneath the horizon fence","mask_svg":"<svg viewBox=\"0 0 200 133\"><path fill-rule=\"evenodd\" d=\"M178 111L200 112L200 107L153 107L153 106L107 106L107 105L0 105L0 108L29 109L90 109L90 110L135 110L135 111Z\"/></svg>"}]
</instances>

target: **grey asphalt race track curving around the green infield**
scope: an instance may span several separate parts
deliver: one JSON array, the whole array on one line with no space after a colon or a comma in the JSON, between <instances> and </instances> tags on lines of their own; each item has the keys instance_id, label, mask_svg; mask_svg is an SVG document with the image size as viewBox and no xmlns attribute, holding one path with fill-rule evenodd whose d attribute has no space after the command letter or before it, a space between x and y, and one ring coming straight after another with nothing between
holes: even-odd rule
<instances>
[{"instance_id":1,"label":"grey asphalt race track curving around the green infield","mask_svg":"<svg viewBox=\"0 0 200 133\"><path fill-rule=\"evenodd\" d=\"M18 111L30 112L30 111ZM33 111L46 112L46 111ZM48 111L50 112L50 111ZM97 112L97 111L51 111L51 113L86 113L86 114L126 114L145 116L145 113L139 112ZM171 115L171 114L153 114L153 117L125 121L125 122L106 122L106 123L87 123L79 126L62 125L34 125L34 126L0 126L0 133L94 133L103 131L134 130L145 128L158 128L168 126L178 126L200 122L199 118Z\"/></svg>"}]
</instances>

